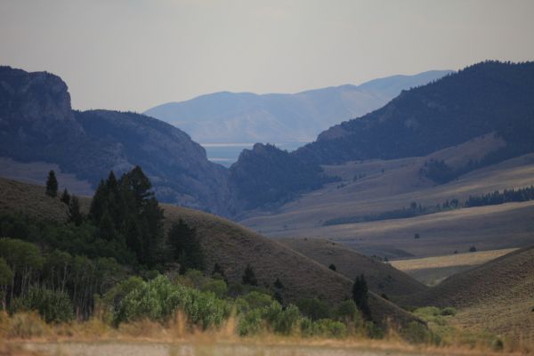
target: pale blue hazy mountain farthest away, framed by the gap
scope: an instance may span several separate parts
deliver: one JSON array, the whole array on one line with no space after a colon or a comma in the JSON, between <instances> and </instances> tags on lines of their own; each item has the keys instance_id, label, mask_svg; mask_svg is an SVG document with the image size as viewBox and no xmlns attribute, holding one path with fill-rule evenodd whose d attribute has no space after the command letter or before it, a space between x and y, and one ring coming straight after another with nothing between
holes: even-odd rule
<instances>
[{"instance_id":1,"label":"pale blue hazy mountain farthest away, framed by the gap","mask_svg":"<svg viewBox=\"0 0 534 356\"><path fill-rule=\"evenodd\" d=\"M145 114L179 127L196 142L305 142L332 125L384 106L402 90L448 73L432 70L295 94L212 93L162 104Z\"/></svg>"}]
</instances>

